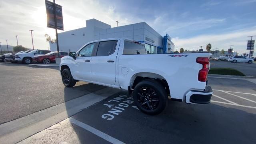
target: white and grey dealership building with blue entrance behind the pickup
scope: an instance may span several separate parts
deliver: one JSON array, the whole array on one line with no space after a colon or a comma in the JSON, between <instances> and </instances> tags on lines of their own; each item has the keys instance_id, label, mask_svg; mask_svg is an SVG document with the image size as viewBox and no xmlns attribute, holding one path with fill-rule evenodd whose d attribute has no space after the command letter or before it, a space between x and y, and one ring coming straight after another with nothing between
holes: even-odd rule
<instances>
[{"instance_id":1,"label":"white and grey dealership building with blue entrance behind the pickup","mask_svg":"<svg viewBox=\"0 0 256 144\"><path fill-rule=\"evenodd\" d=\"M168 34L161 36L146 22L111 28L96 19L86 20L86 27L58 33L59 51L76 52L84 44L106 38L129 38L145 44L148 54L171 53L174 44ZM50 42L50 50L57 51L56 43Z\"/></svg>"}]
</instances>

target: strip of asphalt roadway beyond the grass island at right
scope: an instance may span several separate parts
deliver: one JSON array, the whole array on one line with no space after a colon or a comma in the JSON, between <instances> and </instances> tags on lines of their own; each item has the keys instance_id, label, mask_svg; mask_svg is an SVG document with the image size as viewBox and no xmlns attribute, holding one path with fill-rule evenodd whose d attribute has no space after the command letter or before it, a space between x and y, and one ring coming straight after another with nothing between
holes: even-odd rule
<instances>
[{"instance_id":1,"label":"strip of asphalt roadway beyond the grass island at right","mask_svg":"<svg viewBox=\"0 0 256 144\"><path fill-rule=\"evenodd\" d=\"M246 76L256 76L256 63L232 63L228 61L211 60L211 68L234 68Z\"/></svg>"}]
</instances>

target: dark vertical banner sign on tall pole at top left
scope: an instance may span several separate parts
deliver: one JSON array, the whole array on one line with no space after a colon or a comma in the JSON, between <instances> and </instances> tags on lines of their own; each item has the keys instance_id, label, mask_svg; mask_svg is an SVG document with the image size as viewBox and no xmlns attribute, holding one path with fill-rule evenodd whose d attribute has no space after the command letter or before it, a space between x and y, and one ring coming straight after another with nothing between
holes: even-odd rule
<instances>
[{"instance_id":1,"label":"dark vertical banner sign on tall pole at top left","mask_svg":"<svg viewBox=\"0 0 256 144\"><path fill-rule=\"evenodd\" d=\"M62 17L62 7L58 4L54 4L48 0L45 0L46 6L46 14L47 14L47 27L54 28L58 30L63 29L63 17ZM55 16L54 16L54 6L55 6L55 14L56 14L56 22L55 24ZM55 27L56 26L56 27Z\"/></svg>"}]
</instances>

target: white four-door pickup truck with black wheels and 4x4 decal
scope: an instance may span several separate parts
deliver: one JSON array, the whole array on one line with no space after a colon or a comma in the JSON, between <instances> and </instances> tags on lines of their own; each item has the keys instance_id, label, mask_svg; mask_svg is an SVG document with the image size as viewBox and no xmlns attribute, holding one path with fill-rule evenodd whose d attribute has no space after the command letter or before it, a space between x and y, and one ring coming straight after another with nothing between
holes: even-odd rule
<instances>
[{"instance_id":1,"label":"white four-door pickup truck with black wheels and 4x4 decal","mask_svg":"<svg viewBox=\"0 0 256 144\"><path fill-rule=\"evenodd\" d=\"M61 58L66 87L77 81L132 92L136 106L159 114L168 98L189 104L208 104L210 53L146 54L144 44L126 38L96 40Z\"/></svg>"}]
</instances>

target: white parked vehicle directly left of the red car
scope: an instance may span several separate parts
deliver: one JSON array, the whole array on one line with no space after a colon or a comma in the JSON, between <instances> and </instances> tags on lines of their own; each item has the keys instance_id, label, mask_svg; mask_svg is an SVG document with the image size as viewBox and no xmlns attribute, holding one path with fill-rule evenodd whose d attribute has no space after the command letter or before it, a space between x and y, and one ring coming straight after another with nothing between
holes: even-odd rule
<instances>
[{"instance_id":1,"label":"white parked vehicle directly left of the red car","mask_svg":"<svg viewBox=\"0 0 256 144\"><path fill-rule=\"evenodd\" d=\"M44 55L51 52L50 50L32 50L28 53L15 54L15 61L23 64L30 64L34 56Z\"/></svg>"}]
</instances>

